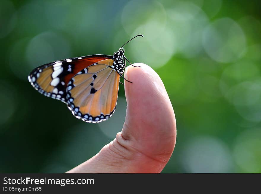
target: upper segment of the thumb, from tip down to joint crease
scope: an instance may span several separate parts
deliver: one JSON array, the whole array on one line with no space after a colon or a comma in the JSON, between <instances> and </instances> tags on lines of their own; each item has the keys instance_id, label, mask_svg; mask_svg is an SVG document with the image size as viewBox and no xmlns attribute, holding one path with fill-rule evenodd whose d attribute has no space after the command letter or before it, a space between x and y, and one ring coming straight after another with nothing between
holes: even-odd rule
<instances>
[{"instance_id":1,"label":"upper segment of the thumb, from tip down to joint crease","mask_svg":"<svg viewBox=\"0 0 261 194\"><path fill-rule=\"evenodd\" d=\"M167 162L176 141L173 107L158 74L143 63L133 65L140 67L128 66L125 71L125 78L133 83L125 82L127 111L118 140L123 146Z\"/></svg>"}]
</instances>

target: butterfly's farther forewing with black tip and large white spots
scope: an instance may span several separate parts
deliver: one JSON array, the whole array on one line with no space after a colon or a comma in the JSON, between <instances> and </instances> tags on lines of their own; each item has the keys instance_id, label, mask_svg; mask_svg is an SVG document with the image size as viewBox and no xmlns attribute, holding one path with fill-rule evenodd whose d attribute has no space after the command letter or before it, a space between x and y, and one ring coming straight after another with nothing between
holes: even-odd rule
<instances>
[{"instance_id":1,"label":"butterfly's farther forewing with black tip and large white spots","mask_svg":"<svg viewBox=\"0 0 261 194\"><path fill-rule=\"evenodd\" d=\"M109 58L112 56L91 55L47 63L31 71L28 80L41 94L66 103L66 87L69 80L82 69Z\"/></svg>"}]
</instances>

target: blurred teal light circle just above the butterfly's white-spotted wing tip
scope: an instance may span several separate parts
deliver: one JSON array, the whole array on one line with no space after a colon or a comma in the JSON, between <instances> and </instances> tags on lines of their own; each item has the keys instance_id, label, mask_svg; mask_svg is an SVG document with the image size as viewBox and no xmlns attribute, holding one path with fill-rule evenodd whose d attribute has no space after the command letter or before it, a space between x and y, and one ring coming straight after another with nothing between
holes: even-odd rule
<instances>
[{"instance_id":1,"label":"blurred teal light circle just above the butterfly's white-spotted wing tip","mask_svg":"<svg viewBox=\"0 0 261 194\"><path fill-rule=\"evenodd\" d=\"M35 36L26 49L26 58L31 68L70 57L70 44L54 32L43 32Z\"/></svg>"}]
</instances>

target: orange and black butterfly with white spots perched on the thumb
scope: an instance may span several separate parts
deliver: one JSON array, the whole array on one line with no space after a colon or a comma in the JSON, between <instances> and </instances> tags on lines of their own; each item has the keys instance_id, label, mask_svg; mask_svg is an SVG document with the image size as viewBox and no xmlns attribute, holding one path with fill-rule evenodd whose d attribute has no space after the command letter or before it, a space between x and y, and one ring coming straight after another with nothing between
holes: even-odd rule
<instances>
[{"instance_id":1,"label":"orange and black butterfly with white spots perched on the thumb","mask_svg":"<svg viewBox=\"0 0 261 194\"><path fill-rule=\"evenodd\" d=\"M130 40L138 36L143 37ZM99 123L116 108L120 77L128 61L123 46L112 56L89 55L44 64L31 71L28 80L44 96L66 103L77 119Z\"/></svg>"}]
</instances>

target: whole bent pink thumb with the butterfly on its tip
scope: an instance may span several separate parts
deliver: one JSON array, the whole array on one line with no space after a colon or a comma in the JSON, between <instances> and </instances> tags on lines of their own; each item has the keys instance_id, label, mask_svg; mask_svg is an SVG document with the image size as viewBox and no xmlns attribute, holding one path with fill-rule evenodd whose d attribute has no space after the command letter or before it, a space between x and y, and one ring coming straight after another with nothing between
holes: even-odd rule
<instances>
[{"instance_id":1,"label":"whole bent pink thumb with the butterfly on its tip","mask_svg":"<svg viewBox=\"0 0 261 194\"><path fill-rule=\"evenodd\" d=\"M122 131L91 159L66 173L160 173L176 142L176 119L158 74L143 63L125 70Z\"/></svg>"}]
</instances>

